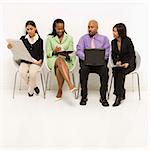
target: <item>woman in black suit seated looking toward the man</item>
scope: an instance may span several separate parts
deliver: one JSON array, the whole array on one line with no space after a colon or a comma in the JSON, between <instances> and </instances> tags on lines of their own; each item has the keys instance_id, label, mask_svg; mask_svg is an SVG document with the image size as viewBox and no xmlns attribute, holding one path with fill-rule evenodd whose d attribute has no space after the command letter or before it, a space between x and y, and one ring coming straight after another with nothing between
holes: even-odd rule
<instances>
[{"instance_id":1,"label":"woman in black suit seated looking toward the man","mask_svg":"<svg viewBox=\"0 0 150 150\"><path fill-rule=\"evenodd\" d=\"M123 23L118 23L113 27L113 36L111 56L116 65L113 68L114 94L116 95L113 106L118 106L121 100L125 99L125 76L135 69L136 64L134 45L127 37L126 26Z\"/></svg>"}]
</instances>

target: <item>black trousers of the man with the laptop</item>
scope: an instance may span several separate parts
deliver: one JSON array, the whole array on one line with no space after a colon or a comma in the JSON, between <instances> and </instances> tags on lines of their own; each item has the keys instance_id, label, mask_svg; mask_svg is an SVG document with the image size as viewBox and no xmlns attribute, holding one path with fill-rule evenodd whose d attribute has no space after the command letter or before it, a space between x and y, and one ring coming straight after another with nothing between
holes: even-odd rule
<instances>
[{"instance_id":1,"label":"black trousers of the man with the laptop","mask_svg":"<svg viewBox=\"0 0 150 150\"><path fill-rule=\"evenodd\" d=\"M108 88L108 68L107 65L101 66L87 66L83 60L80 62L80 84L81 84L81 97L83 99L87 98L87 83L88 76L90 73L97 73L100 76L100 95L102 99L106 99L106 92Z\"/></svg>"}]
</instances>

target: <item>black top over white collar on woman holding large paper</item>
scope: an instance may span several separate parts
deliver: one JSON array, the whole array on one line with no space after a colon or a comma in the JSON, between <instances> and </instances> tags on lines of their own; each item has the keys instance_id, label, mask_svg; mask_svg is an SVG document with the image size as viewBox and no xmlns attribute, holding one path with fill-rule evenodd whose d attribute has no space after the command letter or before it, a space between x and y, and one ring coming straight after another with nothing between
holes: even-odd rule
<instances>
[{"instance_id":1,"label":"black top over white collar on woman holding large paper","mask_svg":"<svg viewBox=\"0 0 150 150\"><path fill-rule=\"evenodd\" d=\"M25 47L34 59L37 61L40 59L43 60L43 40L40 37L34 44L30 44L25 36L22 36L20 39L23 41Z\"/></svg>"}]
</instances>

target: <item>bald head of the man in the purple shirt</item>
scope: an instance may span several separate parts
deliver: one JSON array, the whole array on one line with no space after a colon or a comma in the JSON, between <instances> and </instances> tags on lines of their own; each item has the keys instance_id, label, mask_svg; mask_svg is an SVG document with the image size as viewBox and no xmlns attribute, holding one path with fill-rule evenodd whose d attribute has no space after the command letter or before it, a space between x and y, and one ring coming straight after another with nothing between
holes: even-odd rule
<instances>
[{"instance_id":1,"label":"bald head of the man in the purple shirt","mask_svg":"<svg viewBox=\"0 0 150 150\"><path fill-rule=\"evenodd\" d=\"M94 36L98 30L98 23L96 20L90 20L88 23L88 32L90 36Z\"/></svg>"}]
</instances>

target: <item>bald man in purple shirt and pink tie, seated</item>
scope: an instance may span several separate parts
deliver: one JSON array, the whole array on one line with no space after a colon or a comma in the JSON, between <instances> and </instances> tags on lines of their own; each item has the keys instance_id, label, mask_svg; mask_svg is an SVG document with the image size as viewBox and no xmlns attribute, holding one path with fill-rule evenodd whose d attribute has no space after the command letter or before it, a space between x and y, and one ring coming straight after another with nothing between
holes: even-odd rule
<instances>
[{"instance_id":1,"label":"bald man in purple shirt and pink tie, seated","mask_svg":"<svg viewBox=\"0 0 150 150\"><path fill-rule=\"evenodd\" d=\"M87 82L89 73L97 73L100 76L100 102L103 106L109 106L106 100L107 84L108 84L108 68L107 62L110 54L110 44L106 36L98 34L98 23L91 20L88 23L88 34L83 35L78 44L76 55L79 57L80 62L80 84L81 84L81 101L80 105L86 105L87 102ZM105 65L101 66L88 66L85 65L84 50L88 48L103 48L105 49Z\"/></svg>"}]
</instances>

